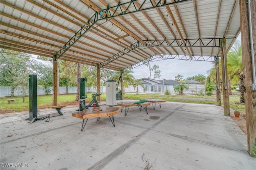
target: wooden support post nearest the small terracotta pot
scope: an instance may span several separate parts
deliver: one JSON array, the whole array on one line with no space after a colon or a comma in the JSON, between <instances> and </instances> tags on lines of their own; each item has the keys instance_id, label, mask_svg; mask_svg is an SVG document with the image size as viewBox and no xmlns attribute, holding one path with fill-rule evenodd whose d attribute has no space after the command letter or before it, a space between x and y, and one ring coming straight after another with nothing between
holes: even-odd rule
<instances>
[{"instance_id":1,"label":"wooden support post nearest the small terracotta pot","mask_svg":"<svg viewBox=\"0 0 256 170\"><path fill-rule=\"evenodd\" d=\"M223 92L224 115L230 116L226 38L220 39L220 56L221 56L221 70L222 70L222 92Z\"/></svg>"}]
</instances>

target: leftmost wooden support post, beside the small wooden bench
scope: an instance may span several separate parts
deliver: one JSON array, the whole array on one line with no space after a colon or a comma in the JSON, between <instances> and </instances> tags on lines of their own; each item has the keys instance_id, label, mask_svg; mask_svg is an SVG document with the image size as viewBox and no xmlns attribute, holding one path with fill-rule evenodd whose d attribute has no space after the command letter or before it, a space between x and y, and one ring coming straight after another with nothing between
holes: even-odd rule
<instances>
[{"instance_id":1,"label":"leftmost wooden support post, beside the small wooden bench","mask_svg":"<svg viewBox=\"0 0 256 170\"><path fill-rule=\"evenodd\" d=\"M58 105L58 60L56 56L53 56L53 95L52 106Z\"/></svg>"}]
</instances>

